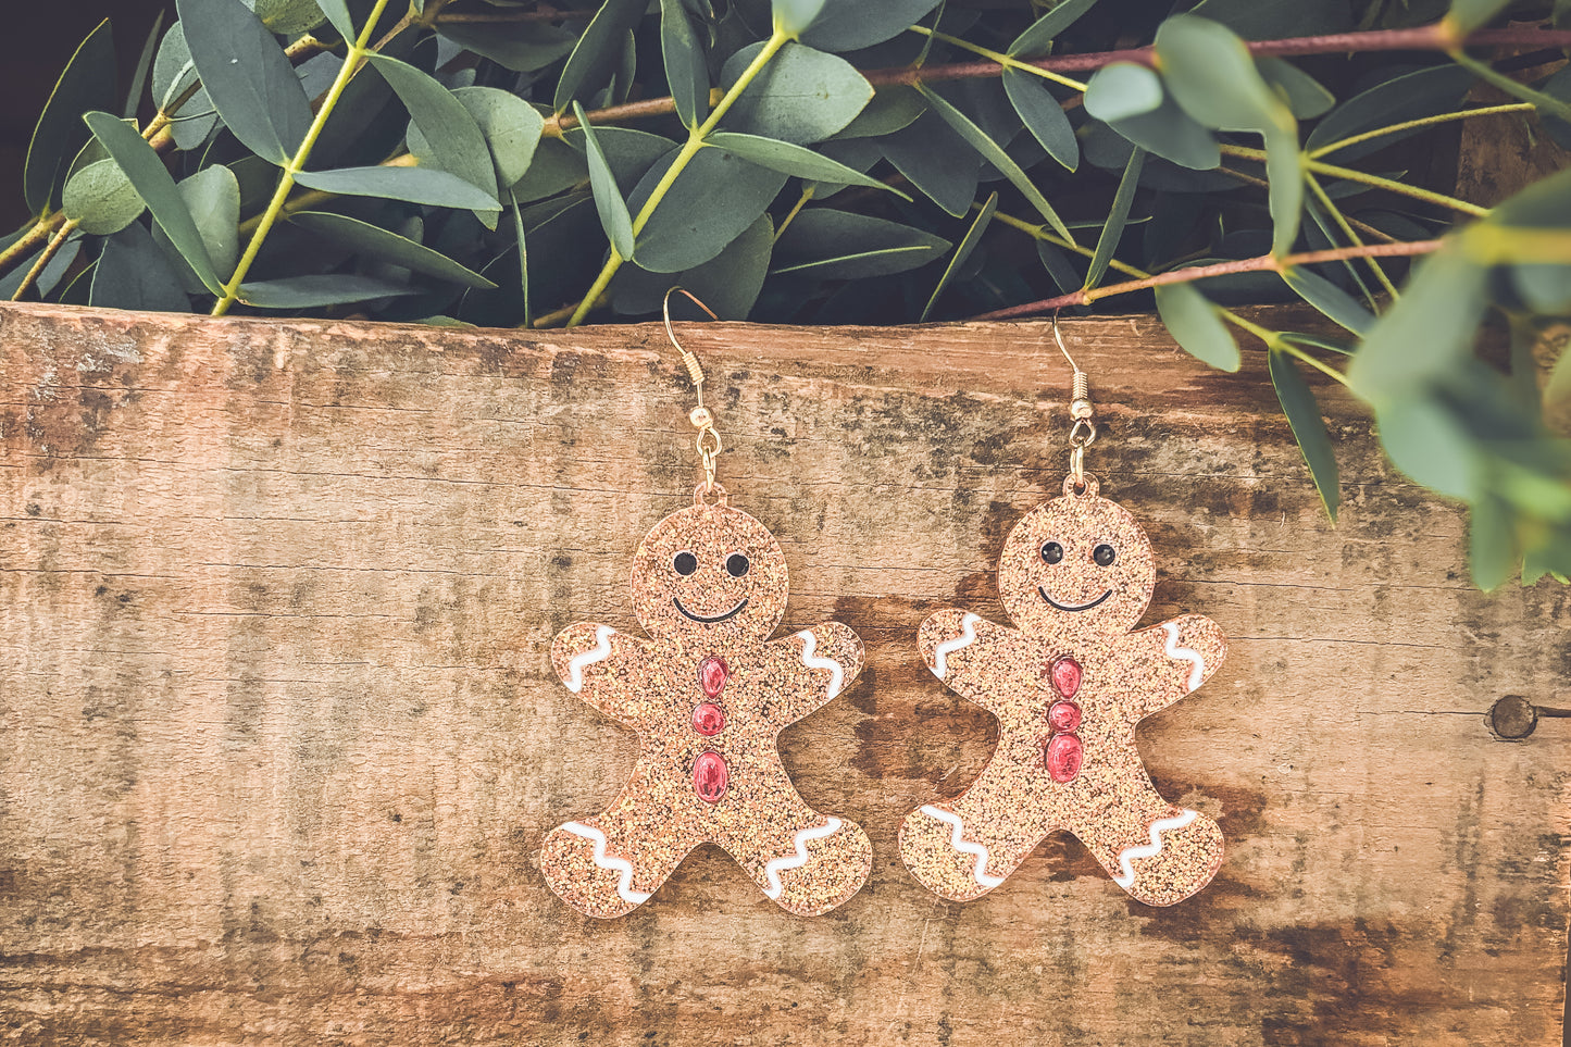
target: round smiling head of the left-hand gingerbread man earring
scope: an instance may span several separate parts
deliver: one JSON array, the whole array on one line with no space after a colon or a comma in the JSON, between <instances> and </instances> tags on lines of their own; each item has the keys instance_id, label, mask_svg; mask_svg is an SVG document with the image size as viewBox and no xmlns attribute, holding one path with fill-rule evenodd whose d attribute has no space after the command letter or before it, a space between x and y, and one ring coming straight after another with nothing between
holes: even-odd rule
<instances>
[{"instance_id":1,"label":"round smiling head of the left-hand gingerbread man earring","mask_svg":"<svg viewBox=\"0 0 1571 1047\"><path fill-rule=\"evenodd\" d=\"M762 643L786 613L787 588L779 542L726 505L672 512L633 555L633 613L657 640Z\"/></svg>"}]
</instances>

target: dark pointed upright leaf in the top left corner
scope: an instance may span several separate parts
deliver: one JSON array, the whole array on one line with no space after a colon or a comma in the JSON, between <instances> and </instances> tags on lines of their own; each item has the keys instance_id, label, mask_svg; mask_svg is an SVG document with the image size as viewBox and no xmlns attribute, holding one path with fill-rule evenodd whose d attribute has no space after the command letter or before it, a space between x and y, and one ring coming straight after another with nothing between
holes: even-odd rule
<instances>
[{"instance_id":1,"label":"dark pointed upright leaf in the top left corner","mask_svg":"<svg viewBox=\"0 0 1571 1047\"><path fill-rule=\"evenodd\" d=\"M13 28L20 42L20 30ZM115 107L115 38L108 19L97 24L86 39L71 55L64 72L55 82L55 90L44 104L44 112L33 127L22 165L22 198L35 215L44 214L58 201L58 190L66 163L75 157L86 141L79 118L88 110Z\"/></svg>"}]
</instances>

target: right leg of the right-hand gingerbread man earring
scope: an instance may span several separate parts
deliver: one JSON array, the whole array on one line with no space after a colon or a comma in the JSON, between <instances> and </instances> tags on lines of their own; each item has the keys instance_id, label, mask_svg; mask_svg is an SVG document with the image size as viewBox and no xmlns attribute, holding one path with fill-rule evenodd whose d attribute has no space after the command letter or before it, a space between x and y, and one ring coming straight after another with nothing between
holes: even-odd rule
<instances>
[{"instance_id":1,"label":"right leg of the right-hand gingerbread man earring","mask_svg":"<svg viewBox=\"0 0 1571 1047\"><path fill-rule=\"evenodd\" d=\"M1174 806L1153 788L1100 811L1095 827L1068 830L1119 887L1147 906L1181 902L1222 868L1222 828L1216 821Z\"/></svg>"}]
</instances>

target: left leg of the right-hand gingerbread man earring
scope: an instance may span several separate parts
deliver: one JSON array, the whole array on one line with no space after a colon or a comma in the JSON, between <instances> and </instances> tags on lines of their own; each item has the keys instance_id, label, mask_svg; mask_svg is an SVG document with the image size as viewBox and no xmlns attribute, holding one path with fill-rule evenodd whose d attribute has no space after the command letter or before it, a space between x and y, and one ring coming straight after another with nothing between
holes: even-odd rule
<instances>
[{"instance_id":1,"label":"left leg of the right-hand gingerbread man earring","mask_svg":"<svg viewBox=\"0 0 1571 1047\"><path fill-rule=\"evenodd\" d=\"M1054 825L1020 802L1020 769L994 761L957 800L925 803L900 825L900 857L930 891L980 898L1015 871Z\"/></svg>"}]
</instances>

